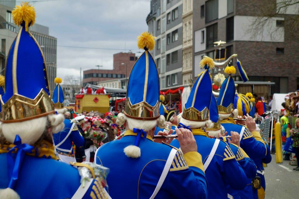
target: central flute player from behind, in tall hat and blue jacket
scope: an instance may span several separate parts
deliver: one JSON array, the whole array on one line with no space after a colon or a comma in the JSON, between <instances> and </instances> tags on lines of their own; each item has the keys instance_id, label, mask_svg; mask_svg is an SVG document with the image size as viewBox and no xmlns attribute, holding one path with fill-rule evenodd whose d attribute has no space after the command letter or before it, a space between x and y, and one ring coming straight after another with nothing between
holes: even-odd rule
<instances>
[{"instance_id":1,"label":"central flute player from behind, in tall hat and blue jacket","mask_svg":"<svg viewBox=\"0 0 299 199\"><path fill-rule=\"evenodd\" d=\"M96 163L110 169L107 192L113 199L207 198L202 158L192 133L176 129L184 155L152 139L157 123L160 128L166 126L159 114L159 74L149 53L154 39L148 32L138 37L138 47L145 52L132 68L125 112L119 113L116 121L127 130L120 140L97 150Z\"/></svg>"}]
</instances>

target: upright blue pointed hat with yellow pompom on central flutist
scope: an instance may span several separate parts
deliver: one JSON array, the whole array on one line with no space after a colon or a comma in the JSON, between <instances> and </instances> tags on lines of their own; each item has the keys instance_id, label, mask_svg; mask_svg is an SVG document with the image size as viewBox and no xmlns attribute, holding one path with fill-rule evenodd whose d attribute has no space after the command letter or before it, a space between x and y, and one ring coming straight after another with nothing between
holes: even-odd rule
<instances>
[{"instance_id":1,"label":"upright blue pointed hat with yellow pompom on central flutist","mask_svg":"<svg viewBox=\"0 0 299 199\"><path fill-rule=\"evenodd\" d=\"M155 37L144 32L138 37L138 47L145 50L135 62L128 81L125 115L138 120L157 119L159 114L159 74L149 50Z\"/></svg>"}]
</instances>

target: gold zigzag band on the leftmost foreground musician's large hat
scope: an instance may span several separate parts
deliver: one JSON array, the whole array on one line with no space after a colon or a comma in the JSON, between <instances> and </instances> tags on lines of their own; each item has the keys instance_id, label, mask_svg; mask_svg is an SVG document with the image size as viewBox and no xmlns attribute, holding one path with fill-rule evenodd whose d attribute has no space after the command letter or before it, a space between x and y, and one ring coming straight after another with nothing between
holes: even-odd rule
<instances>
[{"instance_id":1,"label":"gold zigzag band on the leftmost foreground musician's large hat","mask_svg":"<svg viewBox=\"0 0 299 199\"><path fill-rule=\"evenodd\" d=\"M34 99L14 94L5 104L0 95L2 122L26 121L54 113L51 97L41 89Z\"/></svg>"}]
</instances>

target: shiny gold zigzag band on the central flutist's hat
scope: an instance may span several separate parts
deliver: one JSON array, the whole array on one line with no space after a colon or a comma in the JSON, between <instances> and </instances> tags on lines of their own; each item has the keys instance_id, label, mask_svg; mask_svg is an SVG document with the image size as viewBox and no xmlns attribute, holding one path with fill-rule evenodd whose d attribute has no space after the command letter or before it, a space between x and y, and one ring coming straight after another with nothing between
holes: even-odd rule
<instances>
[{"instance_id":1,"label":"shiny gold zigzag band on the central flutist's hat","mask_svg":"<svg viewBox=\"0 0 299 199\"><path fill-rule=\"evenodd\" d=\"M155 106L152 107L146 101L132 105L130 98L127 98L125 104L125 114L129 117L134 117L134 119L140 120L144 120L145 118L158 118L160 116L159 101L157 100Z\"/></svg>"}]
</instances>

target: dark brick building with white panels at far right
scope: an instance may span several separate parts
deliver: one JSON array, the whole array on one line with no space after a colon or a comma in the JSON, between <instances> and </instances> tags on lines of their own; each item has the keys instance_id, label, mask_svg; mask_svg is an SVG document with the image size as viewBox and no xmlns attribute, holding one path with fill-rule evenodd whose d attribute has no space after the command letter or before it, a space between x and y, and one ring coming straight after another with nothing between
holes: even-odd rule
<instances>
[{"instance_id":1,"label":"dark brick building with white panels at far right","mask_svg":"<svg viewBox=\"0 0 299 199\"><path fill-rule=\"evenodd\" d=\"M269 2L268 2L269 1ZM271 81L271 94L299 89L298 40L293 39L287 15L298 14L287 9L263 27L262 35L248 34L256 17L257 7L266 7L275 0L197 0L193 1L193 74L199 74L199 62L203 55L214 58L213 42L226 41L226 57L238 54L249 81ZM269 32L277 31L270 36ZM236 67L237 59L232 65ZM213 73L217 73L213 70ZM223 73L223 71L222 71ZM240 81L238 72L235 81ZM247 85L252 89L252 85Z\"/></svg>"}]
</instances>

